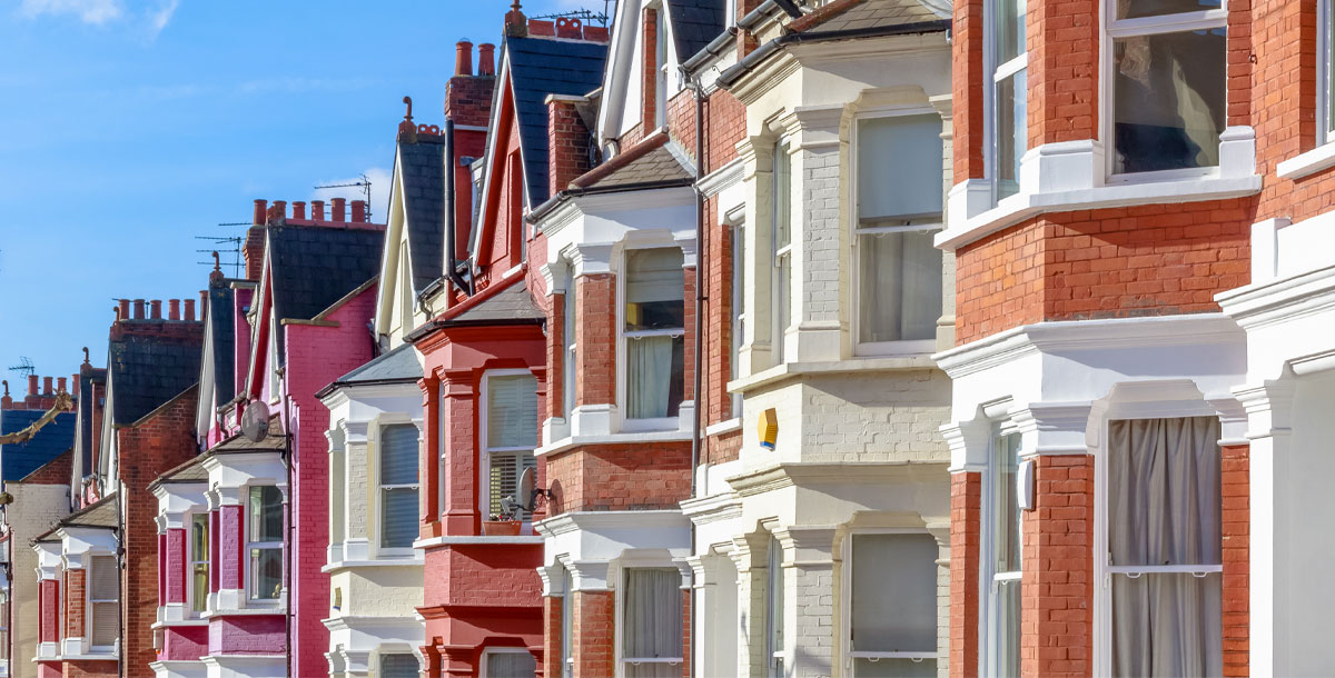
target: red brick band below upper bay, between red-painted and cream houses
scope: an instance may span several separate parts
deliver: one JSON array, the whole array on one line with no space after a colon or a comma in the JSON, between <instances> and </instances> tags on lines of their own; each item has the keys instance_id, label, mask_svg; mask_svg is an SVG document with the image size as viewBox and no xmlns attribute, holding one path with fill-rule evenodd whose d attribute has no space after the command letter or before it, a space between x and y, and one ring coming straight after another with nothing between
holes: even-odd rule
<instances>
[{"instance_id":1,"label":"red brick band below upper bay, between red-painted and cream houses","mask_svg":"<svg viewBox=\"0 0 1335 678\"><path fill-rule=\"evenodd\" d=\"M551 515L677 508L690 496L690 443L595 444L547 456Z\"/></svg>"}]
</instances>

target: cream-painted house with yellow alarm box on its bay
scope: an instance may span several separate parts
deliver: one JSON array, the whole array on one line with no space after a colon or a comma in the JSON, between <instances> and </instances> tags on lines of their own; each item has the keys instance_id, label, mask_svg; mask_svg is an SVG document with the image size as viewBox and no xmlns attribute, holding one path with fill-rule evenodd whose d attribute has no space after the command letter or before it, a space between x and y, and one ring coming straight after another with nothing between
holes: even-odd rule
<instances>
[{"instance_id":1,"label":"cream-painted house with yellow alarm box on its bay","mask_svg":"<svg viewBox=\"0 0 1335 678\"><path fill-rule=\"evenodd\" d=\"M808 3L812 5L812 3ZM761 5L718 87L746 105L724 194L736 460L694 499L702 675L947 675L953 258L949 8ZM732 198L732 200L729 200ZM777 426L762 444L762 422ZM737 630L736 633L729 633Z\"/></svg>"}]
</instances>

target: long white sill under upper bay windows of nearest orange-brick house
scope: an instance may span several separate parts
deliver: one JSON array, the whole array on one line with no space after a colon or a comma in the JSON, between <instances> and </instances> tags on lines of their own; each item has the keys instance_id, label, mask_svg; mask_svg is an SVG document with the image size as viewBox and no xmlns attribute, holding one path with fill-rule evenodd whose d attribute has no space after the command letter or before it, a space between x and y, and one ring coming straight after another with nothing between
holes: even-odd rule
<instances>
[{"instance_id":1,"label":"long white sill under upper bay windows of nearest orange-brick house","mask_svg":"<svg viewBox=\"0 0 1335 678\"><path fill-rule=\"evenodd\" d=\"M953 251L1031 216L1047 212L1222 200L1252 195L1260 191L1260 175L1239 178L1211 175L1163 182L1121 182L1073 191L1017 194L1003 199L992 210L972 219L952 219L951 226L937 234L936 246Z\"/></svg>"}]
</instances>

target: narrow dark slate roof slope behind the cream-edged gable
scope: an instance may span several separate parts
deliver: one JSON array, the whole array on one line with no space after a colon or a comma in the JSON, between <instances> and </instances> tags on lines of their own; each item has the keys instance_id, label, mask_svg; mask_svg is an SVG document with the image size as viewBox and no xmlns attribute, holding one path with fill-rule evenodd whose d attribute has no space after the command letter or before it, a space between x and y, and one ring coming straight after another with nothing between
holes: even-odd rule
<instances>
[{"instance_id":1,"label":"narrow dark slate roof slope behind the cream-edged gable","mask_svg":"<svg viewBox=\"0 0 1335 678\"><path fill-rule=\"evenodd\" d=\"M403 174L413 291L421 292L441 278L445 258L445 137L421 135L413 144L399 141L398 170Z\"/></svg>"}]
</instances>

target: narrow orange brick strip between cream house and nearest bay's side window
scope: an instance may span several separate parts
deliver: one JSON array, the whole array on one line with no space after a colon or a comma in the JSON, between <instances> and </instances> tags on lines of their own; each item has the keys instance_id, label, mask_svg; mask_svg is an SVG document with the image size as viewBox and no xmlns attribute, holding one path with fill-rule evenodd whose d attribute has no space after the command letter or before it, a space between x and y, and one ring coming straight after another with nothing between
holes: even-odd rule
<instances>
[{"instance_id":1,"label":"narrow orange brick strip between cream house and nearest bay's side window","mask_svg":"<svg viewBox=\"0 0 1335 678\"><path fill-rule=\"evenodd\" d=\"M983 474L951 475L951 675L976 675L979 666L979 537Z\"/></svg>"}]
</instances>

